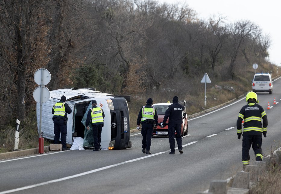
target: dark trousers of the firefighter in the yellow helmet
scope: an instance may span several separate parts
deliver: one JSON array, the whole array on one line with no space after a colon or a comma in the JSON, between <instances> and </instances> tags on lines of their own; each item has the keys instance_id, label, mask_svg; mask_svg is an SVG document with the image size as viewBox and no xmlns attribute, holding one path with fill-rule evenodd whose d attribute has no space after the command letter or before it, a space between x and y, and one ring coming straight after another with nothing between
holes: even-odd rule
<instances>
[{"instance_id":1,"label":"dark trousers of the firefighter in the yellow helmet","mask_svg":"<svg viewBox=\"0 0 281 194\"><path fill-rule=\"evenodd\" d=\"M250 155L249 150L252 148L255 152L256 161L262 161L262 138L261 135L244 135L243 142L242 142L242 161L249 161Z\"/></svg>"}]
</instances>

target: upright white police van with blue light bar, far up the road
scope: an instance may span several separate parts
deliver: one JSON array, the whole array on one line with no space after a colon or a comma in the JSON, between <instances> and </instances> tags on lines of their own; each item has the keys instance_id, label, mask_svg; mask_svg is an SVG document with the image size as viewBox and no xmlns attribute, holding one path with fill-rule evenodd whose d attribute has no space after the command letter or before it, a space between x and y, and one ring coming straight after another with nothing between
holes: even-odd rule
<instances>
[{"instance_id":1,"label":"upright white police van with blue light bar, far up the road","mask_svg":"<svg viewBox=\"0 0 281 194\"><path fill-rule=\"evenodd\" d=\"M269 92L273 93L273 81L270 73L257 73L252 80L253 92Z\"/></svg>"}]
</instances>

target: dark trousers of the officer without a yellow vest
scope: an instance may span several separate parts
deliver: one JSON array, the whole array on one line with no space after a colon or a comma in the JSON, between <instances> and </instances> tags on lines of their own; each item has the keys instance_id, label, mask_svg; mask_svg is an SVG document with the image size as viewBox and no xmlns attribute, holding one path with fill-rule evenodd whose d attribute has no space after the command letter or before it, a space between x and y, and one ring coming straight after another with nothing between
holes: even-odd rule
<instances>
[{"instance_id":1,"label":"dark trousers of the officer without a yellow vest","mask_svg":"<svg viewBox=\"0 0 281 194\"><path fill-rule=\"evenodd\" d=\"M177 140L178 149L182 150L182 136L181 136L182 124L169 124L168 134L171 152L175 152L175 138ZM175 135L175 132L177 134Z\"/></svg>"}]
</instances>

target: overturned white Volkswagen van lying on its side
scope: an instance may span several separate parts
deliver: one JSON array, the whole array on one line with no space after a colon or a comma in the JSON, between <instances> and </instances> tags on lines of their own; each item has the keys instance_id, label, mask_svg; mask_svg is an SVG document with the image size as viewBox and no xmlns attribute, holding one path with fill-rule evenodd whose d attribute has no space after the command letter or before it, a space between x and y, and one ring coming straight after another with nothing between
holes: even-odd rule
<instances>
[{"instance_id":1,"label":"overturned white Volkswagen van lying on its side","mask_svg":"<svg viewBox=\"0 0 281 194\"><path fill-rule=\"evenodd\" d=\"M131 101L131 96L116 96L95 91L95 89L91 88L50 91L49 100L42 104L41 131L44 138L54 140L52 107L60 100L62 95L66 96L66 103L68 103L72 110L71 114L67 114L66 142L68 144L73 144L74 137L81 137L84 139L83 147L93 147L92 131L91 129L88 131L84 124L87 110L91 108L91 100L96 100L97 106L101 107L105 114L100 143L101 148L125 149L131 147L129 108L127 103L127 101ZM36 115L39 133L40 103L37 103Z\"/></svg>"}]
</instances>

